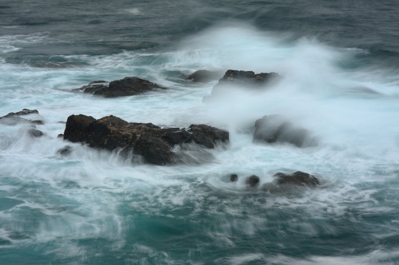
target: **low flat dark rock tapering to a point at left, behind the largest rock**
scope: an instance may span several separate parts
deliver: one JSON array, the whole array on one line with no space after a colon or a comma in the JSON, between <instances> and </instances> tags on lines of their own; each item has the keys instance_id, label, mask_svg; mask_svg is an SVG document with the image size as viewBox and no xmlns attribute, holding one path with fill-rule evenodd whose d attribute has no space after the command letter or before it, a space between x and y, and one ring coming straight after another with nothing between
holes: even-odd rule
<instances>
[{"instance_id":1,"label":"low flat dark rock tapering to a point at left, behind the largest rock","mask_svg":"<svg viewBox=\"0 0 399 265\"><path fill-rule=\"evenodd\" d=\"M121 80L112 82L93 81L81 88L72 89L72 91L81 90L93 95L104 97L118 97L141 94L153 89L166 89L148 80L138 77L125 77Z\"/></svg>"}]
</instances>

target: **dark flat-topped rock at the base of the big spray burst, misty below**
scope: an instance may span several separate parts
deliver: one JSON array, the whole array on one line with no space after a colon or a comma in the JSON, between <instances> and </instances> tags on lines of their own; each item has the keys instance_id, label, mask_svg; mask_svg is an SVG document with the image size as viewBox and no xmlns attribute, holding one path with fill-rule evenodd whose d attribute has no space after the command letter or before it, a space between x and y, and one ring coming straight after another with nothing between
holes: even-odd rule
<instances>
[{"instance_id":1,"label":"dark flat-topped rock at the base of the big spray burst, misty below","mask_svg":"<svg viewBox=\"0 0 399 265\"><path fill-rule=\"evenodd\" d=\"M213 97L229 93L232 91L232 88L253 88L255 90L267 88L280 78L281 76L277 73L255 74L252 71L227 70L224 76L212 88L210 96L205 96L203 101L207 102Z\"/></svg>"}]
</instances>

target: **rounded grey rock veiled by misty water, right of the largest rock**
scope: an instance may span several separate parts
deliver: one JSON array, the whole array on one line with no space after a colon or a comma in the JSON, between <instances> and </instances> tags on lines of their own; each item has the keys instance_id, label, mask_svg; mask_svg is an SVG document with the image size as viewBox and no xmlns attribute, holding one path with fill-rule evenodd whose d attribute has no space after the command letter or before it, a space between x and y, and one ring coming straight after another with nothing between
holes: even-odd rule
<instances>
[{"instance_id":1,"label":"rounded grey rock veiled by misty water, right of the largest rock","mask_svg":"<svg viewBox=\"0 0 399 265\"><path fill-rule=\"evenodd\" d=\"M255 122L254 140L267 143L290 143L298 147L318 145L317 137L304 128L296 127L281 115L263 116Z\"/></svg>"}]
</instances>

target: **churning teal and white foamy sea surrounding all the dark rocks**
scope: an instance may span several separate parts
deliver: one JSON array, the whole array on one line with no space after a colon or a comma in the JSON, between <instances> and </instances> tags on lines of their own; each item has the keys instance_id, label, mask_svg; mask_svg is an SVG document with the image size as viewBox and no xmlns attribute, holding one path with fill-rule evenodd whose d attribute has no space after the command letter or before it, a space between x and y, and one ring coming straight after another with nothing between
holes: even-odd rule
<instances>
[{"instance_id":1,"label":"churning teal and white foamy sea surrounding all the dark rocks","mask_svg":"<svg viewBox=\"0 0 399 265\"><path fill-rule=\"evenodd\" d=\"M0 264L399 264L398 14L397 0L1 0L0 116L44 123L41 137L0 123ZM281 79L203 101L218 79L185 79L201 69ZM71 92L124 77L167 89ZM230 141L151 165L57 138L72 114ZM254 141L271 114L318 144ZM320 185L260 188L296 171Z\"/></svg>"}]
</instances>

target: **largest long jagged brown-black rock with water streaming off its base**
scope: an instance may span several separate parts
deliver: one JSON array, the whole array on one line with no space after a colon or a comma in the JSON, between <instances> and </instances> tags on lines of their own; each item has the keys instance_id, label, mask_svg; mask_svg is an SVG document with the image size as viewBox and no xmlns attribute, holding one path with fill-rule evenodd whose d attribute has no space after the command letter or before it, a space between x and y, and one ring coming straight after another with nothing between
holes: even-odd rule
<instances>
[{"instance_id":1,"label":"largest long jagged brown-black rock with water streaming off its base","mask_svg":"<svg viewBox=\"0 0 399 265\"><path fill-rule=\"evenodd\" d=\"M127 122L112 115L95 119L79 114L68 117L64 139L95 148L133 151L148 163L166 165L178 163L172 151L174 145L194 142L214 148L218 141L228 141L228 132L204 124L191 125L186 130Z\"/></svg>"}]
</instances>

